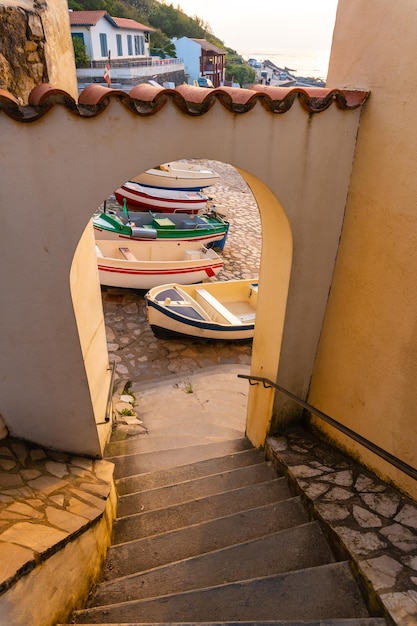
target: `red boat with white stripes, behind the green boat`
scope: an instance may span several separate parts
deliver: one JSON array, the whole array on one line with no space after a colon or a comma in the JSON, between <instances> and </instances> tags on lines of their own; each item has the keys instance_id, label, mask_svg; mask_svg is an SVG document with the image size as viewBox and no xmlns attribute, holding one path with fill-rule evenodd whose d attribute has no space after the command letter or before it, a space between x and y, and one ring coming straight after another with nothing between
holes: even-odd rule
<instances>
[{"instance_id":1,"label":"red boat with white stripes, behind the green boat","mask_svg":"<svg viewBox=\"0 0 417 626\"><path fill-rule=\"evenodd\" d=\"M156 189L143 187L139 183L128 181L114 192L116 200L123 206L142 210L160 211L161 213L199 213L207 208L208 196L199 191L180 191L179 189Z\"/></svg>"}]
</instances>

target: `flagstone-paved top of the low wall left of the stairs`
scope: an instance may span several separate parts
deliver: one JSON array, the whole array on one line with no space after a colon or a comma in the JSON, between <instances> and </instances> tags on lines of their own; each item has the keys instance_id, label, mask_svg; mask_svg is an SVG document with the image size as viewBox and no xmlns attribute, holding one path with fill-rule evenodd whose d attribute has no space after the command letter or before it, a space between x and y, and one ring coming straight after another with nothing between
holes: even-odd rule
<instances>
[{"instance_id":1,"label":"flagstone-paved top of the low wall left of the stairs","mask_svg":"<svg viewBox=\"0 0 417 626\"><path fill-rule=\"evenodd\" d=\"M13 438L0 447L0 593L100 518L112 463Z\"/></svg>"}]
</instances>

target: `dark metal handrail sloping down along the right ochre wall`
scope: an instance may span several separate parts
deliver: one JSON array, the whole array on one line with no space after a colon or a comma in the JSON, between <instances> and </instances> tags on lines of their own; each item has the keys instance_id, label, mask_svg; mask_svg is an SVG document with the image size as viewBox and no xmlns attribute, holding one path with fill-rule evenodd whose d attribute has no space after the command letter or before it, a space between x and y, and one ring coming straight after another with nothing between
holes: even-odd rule
<instances>
[{"instance_id":1,"label":"dark metal handrail sloping down along the right ochre wall","mask_svg":"<svg viewBox=\"0 0 417 626\"><path fill-rule=\"evenodd\" d=\"M337 430L340 430L343 434L347 435L348 437L362 445L364 448L367 448L377 456L384 459L384 461L387 461L404 474L407 474L407 476L410 476L410 478L417 480L417 470L414 467L408 465L408 463L405 463L404 461L401 461L401 459L398 459L396 456L394 456L390 452L387 452L383 448L380 448L377 444L369 441L369 439L366 439L365 437L362 437L362 435L355 433L355 431L336 421L333 417L330 417L330 415L323 413L323 411L320 411L320 409L317 409L308 402L301 400L301 398L298 398L298 396L291 393L291 391L288 391L288 389L285 389L284 387L281 387L281 385L278 385L272 380L269 380L268 378L264 378L262 376L251 376L250 374L238 374L237 376L238 378L245 378L246 380L248 380L250 385L257 385L259 383L262 383L265 389L273 387L277 391L291 398L291 400L293 400L296 404L299 404L304 409L307 409L311 413L314 413L314 415L317 415L317 417L320 417L323 421L327 422Z\"/></svg>"}]
</instances>

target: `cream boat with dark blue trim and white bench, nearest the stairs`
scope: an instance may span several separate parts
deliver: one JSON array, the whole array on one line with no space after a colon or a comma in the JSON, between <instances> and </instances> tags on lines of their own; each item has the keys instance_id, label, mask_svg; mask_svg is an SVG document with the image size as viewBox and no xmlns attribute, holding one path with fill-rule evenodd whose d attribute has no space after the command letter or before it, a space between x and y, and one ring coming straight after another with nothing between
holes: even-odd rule
<instances>
[{"instance_id":1,"label":"cream boat with dark blue trim and white bench, nearest the stairs","mask_svg":"<svg viewBox=\"0 0 417 626\"><path fill-rule=\"evenodd\" d=\"M233 285L232 285L233 283ZM214 285L235 286L240 283L241 293L246 289L247 296L227 310L216 298L208 293ZM162 285L150 290L145 295L148 322L157 337L198 337L221 341L248 341L253 338L256 317L257 284L253 281L227 281L226 283L210 283L206 286L191 285L193 292L186 288L179 289L174 284ZM195 289L194 289L195 288ZM205 295L202 295L205 292ZM198 294L198 295L196 295ZM206 303L200 299L207 298ZM174 300L173 298L177 298ZM202 304L202 306L200 306ZM213 308L214 307L214 308ZM235 314L230 309L235 310ZM240 309L240 313L238 312ZM208 314L209 312L209 314Z\"/></svg>"}]
</instances>

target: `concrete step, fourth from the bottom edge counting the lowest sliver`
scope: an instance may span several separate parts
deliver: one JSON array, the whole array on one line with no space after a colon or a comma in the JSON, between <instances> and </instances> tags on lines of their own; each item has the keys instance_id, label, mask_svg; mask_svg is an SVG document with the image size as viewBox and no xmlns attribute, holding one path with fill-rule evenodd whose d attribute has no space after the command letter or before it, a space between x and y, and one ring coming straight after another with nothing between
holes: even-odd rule
<instances>
[{"instance_id":1,"label":"concrete step, fourth from the bottom edge counting the lowest sliver","mask_svg":"<svg viewBox=\"0 0 417 626\"><path fill-rule=\"evenodd\" d=\"M188 559L285 530L293 525L305 524L307 521L307 513L300 499L290 498L179 530L111 546L107 552L104 579L128 576L139 570ZM237 528L239 532L236 532Z\"/></svg>"}]
</instances>

